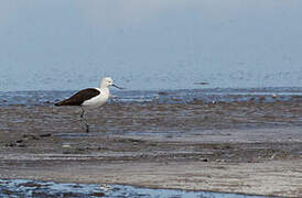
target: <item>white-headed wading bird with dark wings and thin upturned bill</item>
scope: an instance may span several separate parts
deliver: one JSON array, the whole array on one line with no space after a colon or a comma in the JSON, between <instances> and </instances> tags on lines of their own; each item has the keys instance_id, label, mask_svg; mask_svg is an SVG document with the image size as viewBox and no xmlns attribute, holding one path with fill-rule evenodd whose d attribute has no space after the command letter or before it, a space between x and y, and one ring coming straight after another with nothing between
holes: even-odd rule
<instances>
[{"instance_id":1,"label":"white-headed wading bird with dark wings and thin upturned bill","mask_svg":"<svg viewBox=\"0 0 302 198\"><path fill-rule=\"evenodd\" d=\"M109 87L116 87L118 89L123 89L114 84L110 77L104 77L100 80L99 88L87 88L77 91L71 98L63 101L56 102L55 106L77 106L82 108L80 119L85 123L86 132L89 132L89 124L84 119L84 113L86 109L94 109L103 106L108 100L110 92Z\"/></svg>"}]
</instances>

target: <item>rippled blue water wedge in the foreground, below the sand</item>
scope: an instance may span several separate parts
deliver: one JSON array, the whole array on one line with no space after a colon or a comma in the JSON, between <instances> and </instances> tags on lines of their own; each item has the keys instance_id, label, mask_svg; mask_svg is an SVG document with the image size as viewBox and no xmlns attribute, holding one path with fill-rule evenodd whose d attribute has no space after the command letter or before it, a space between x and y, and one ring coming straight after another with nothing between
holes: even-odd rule
<instances>
[{"instance_id":1,"label":"rippled blue water wedge in the foreground, below the sand","mask_svg":"<svg viewBox=\"0 0 302 198\"><path fill-rule=\"evenodd\" d=\"M28 179L0 179L1 197L202 197L260 198L237 194L150 189L123 185L54 183Z\"/></svg>"}]
</instances>

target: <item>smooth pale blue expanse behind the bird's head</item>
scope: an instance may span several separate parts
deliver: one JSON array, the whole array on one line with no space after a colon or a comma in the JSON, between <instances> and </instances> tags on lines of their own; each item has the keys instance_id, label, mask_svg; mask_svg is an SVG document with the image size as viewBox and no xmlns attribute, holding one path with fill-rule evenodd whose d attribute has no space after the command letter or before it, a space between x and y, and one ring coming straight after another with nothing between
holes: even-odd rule
<instances>
[{"instance_id":1,"label":"smooth pale blue expanse behind the bird's head","mask_svg":"<svg viewBox=\"0 0 302 198\"><path fill-rule=\"evenodd\" d=\"M0 91L302 87L300 0L1 0Z\"/></svg>"}]
</instances>

